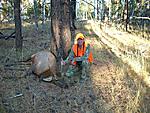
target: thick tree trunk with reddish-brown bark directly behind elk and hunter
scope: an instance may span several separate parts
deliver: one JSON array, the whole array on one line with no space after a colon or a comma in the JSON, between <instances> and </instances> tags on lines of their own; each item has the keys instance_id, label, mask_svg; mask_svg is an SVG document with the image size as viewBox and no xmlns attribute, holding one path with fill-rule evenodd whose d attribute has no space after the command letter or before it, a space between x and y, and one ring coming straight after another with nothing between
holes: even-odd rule
<instances>
[{"instance_id":1,"label":"thick tree trunk with reddish-brown bark directly behind elk and hunter","mask_svg":"<svg viewBox=\"0 0 150 113\"><path fill-rule=\"evenodd\" d=\"M51 51L58 61L60 71L61 58L65 58L71 46L70 0L51 0Z\"/></svg>"}]
</instances>

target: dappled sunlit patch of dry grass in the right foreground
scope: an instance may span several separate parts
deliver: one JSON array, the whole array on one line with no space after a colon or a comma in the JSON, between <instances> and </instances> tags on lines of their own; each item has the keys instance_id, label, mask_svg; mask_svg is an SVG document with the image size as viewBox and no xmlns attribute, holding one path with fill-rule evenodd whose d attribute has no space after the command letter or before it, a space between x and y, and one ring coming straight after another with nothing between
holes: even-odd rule
<instances>
[{"instance_id":1,"label":"dappled sunlit patch of dry grass in the right foreground","mask_svg":"<svg viewBox=\"0 0 150 113\"><path fill-rule=\"evenodd\" d=\"M147 112L143 100L146 87L139 79L134 78L135 73L128 72L128 66L120 60L111 61L107 55L104 59L100 59L100 66L93 70L92 81L95 93L101 90L105 105L109 105L109 109L114 113Z\"/></svg>"}]
</instances>

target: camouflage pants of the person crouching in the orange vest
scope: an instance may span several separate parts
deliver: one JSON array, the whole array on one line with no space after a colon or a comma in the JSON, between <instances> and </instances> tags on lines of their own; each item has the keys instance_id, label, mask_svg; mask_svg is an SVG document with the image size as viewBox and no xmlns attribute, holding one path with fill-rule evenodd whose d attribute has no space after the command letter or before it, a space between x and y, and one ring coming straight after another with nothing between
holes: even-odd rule
<instances>
[{"instance_id":1,"label":"camouflage pants of the person crouching in the orange vest","mask_svg":"<svg viewBox=\"0 0 150 113\"><path fill-rule=\"evenodd\" d=\"M89 70L90 70L90 63L88 61L80 61L77 62L77 65L69 66L66 72L66 76L71 77L75 75L75 73L81 72L80 77L84 79L89 74Z\"/></svg>"}]
</instances>

